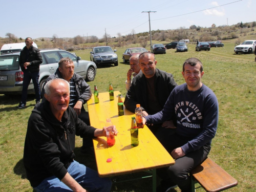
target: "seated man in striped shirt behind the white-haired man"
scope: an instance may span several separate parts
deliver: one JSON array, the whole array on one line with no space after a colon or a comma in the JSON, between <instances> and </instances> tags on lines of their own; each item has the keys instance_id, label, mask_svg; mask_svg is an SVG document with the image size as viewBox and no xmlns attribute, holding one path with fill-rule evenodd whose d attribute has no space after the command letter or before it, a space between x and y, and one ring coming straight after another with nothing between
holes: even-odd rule
<instances>
[{"instance_id":1,"label":"seated man in striped shirt behind the white-haired man","mask_svg":"<svg viewBox=\"0 0 256 192\"><path fill-rule=\"evenodd\" d=\"M59 67L56 72L50 75L46 82L51 79L65 79L70 84L70 101L69 106L71 106L79 119L81 119L87 125L90 125L89 113L84 109L83 104L85 104L92 97L92 92L89 84L78 74L74 73L74 62L69 57L65 57L59 60ZM45 93L44 88L42 92ZM42 102L45 98L42 99ZM83 138L83 144L81 147L81 153L94 155L91 150L93 142L91 138Z\"/></svg>"}]
</instances>

